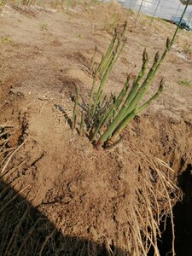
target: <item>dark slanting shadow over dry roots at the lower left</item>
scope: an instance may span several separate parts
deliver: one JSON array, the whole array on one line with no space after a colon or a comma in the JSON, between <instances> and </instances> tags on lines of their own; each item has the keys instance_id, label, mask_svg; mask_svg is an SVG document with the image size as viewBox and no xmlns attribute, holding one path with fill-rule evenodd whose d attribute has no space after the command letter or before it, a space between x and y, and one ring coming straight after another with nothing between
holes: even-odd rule
<instances>
[{"instance_id":1,"label":"dark slanting shadow over dry roots at the lower left","mask_svg":"<svg viewBox=\"0 0 192 256\"><path fill-rule=\"evenodd\" d=\"M63 224L67 226L67 223ZM73 229L73 227L72 227ZM111 248L114 255L125 255ZM9 185L0 183L0 255L110 255L107 245L63 236L55 224Z\"/></svg>"}]
</instances>

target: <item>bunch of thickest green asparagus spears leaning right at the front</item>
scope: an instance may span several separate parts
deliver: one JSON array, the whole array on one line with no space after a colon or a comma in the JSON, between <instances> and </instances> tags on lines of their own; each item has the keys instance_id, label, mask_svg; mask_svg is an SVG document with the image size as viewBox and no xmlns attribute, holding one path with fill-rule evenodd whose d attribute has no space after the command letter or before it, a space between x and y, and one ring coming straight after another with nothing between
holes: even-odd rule
<instances>
[{"instance_id":1,"label":"bunch of thickest green asparagus spears leaning right at the front","mask_svg":"<svg viewBox=\"0 0 192 256\"><path fill-rule=\"evenodd\" d=\"M136 116L137 113L141 112L143 108L146 108L148 104L152 102L152 100L156 99L157 96L160 95L160 92L163 89L162 81L160 82L160 88L158 92L154 96L152 96L148 100L148 102L145 102L142 107L138 107L138 104L143 100L143 96L146 94L148 87L152 84L154 76L160 68L160 65L165 59L166 53L169 49L170 40L167 38L166 49L164 53L161 55L161 58L159 52L156 53L156 55L154 56L153 66L149 69L146 78L143 80L143 83L140 84L146 72L148 63L148 54L146 52L146 49L143 51L143 67L138 74L136 81L133 82L131 91L126 97L123 106L119 109L119 113L117 113L115 119L113 119L113 122L108 126L108 129L96 142L96 149L101 148L104 143L107 144L110 138L112 140L114 140L114 138L117 138L117 135L119 135L120 131L125 128L125 125L127 125L131 121L131 119Z\"/></svg>"}]
</instances>

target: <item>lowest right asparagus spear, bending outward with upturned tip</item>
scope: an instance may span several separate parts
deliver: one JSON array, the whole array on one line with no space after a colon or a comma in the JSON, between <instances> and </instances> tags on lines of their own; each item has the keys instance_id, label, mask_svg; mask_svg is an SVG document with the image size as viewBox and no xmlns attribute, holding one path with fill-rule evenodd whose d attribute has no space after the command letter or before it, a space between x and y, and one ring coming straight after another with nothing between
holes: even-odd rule
<instances>
[{"instance_id":1,"label":"lowest right asparagus spear, bending outward with upturned tip","mask_svg":"<svg viewBox=\"0 0 192 256\"><path fill-rule=\"evenodd\" d=\"M158 91L152 96L147 102L145 102L140 108L134 109L135 114L140 113L143 111L144 108L147 108L148 105L157 99L158 96L160 96L160 93L163 91L163 85L164 85L164 79L161 79L160 86ZM123 121L117 126L117 128L113 132L112 139L115 141L117 137L119 137L119 134L125 129L125 126L131 121L132 112L128 113L128 115L123 119Z\"/></svg>"}]
</instances>

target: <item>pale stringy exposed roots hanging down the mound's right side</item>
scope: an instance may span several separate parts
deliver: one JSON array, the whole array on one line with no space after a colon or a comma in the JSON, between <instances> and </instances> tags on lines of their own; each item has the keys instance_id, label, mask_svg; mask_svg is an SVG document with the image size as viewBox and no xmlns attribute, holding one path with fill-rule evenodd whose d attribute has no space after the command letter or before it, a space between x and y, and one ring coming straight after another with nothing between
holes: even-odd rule
<instances>
[{"instance_id":1,"label":"pale stringy exposed roots hanging down the mound's right side","mask_svg":"<svg viewBox=\"0 0 192 256\"><path fill-rule=\"evenodd\" d=\"M131 254L160 256L159 243L161 238L160 223L166 223L167 216L172 221L172 255L174 249L174 222L172 207L178 201L181 193L174 180L174 171L170 166L159 159L141 155L146 161L149 170L140 168L137 181L137 201L131 212L131 233L133 242Z\"/></svg>"}]
</instances>

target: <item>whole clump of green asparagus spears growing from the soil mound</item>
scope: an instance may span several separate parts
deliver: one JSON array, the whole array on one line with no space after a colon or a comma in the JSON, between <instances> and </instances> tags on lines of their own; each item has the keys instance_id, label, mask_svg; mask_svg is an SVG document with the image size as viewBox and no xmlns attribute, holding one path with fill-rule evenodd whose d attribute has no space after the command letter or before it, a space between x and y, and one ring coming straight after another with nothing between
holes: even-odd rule
<instances>
[{"instance_id":1,"label":"whole clump of green asparagus spears growing from the soil mound","mask_svg":"<svg viewBox=\"0 0 192 256\"><path fill-rule=\"evenodd\" d=\"M156 53L154 63L149 69L148 53L147 50L144 49L143 65L136 79L131 81L131 75L129 75L119 95L111 95L108 99L107 96L103 96L103 90L108 80L108 75L111 73L115 62L124 49L126 42L126 38L124 37L125 27L126 23L122 32L117 32L117 29L115 29L107 52L105 55L102 55L98 66L96 66L97 48L95 48L94 55L91 59L90 74L93 77L93 83L90 90L90 102L88 105L84 103L85 113L82 112L81 114L79 134L83 134L84 126L86 126L88 136L96 149L101 147L108 148L108 145L111 145L111 143L116 144L119 141L119 137L121 137L121 132L131 119L160 96L163 90L164 79L161 79L159 89L154 96L150 96L149 99L143 103L143 97L146 95L149 86L153 83L154 77L160 69L167 52L171 49L177 34L176 30L172 41L167 38L166 49L162 55L160 55L159 52ZM96 84L99 84L97 90ZM78 105L79 91L76 89L76 100L73 108L73 128L76 123Z\"/></svg>"}]
</instances>

